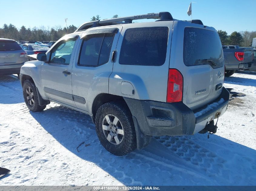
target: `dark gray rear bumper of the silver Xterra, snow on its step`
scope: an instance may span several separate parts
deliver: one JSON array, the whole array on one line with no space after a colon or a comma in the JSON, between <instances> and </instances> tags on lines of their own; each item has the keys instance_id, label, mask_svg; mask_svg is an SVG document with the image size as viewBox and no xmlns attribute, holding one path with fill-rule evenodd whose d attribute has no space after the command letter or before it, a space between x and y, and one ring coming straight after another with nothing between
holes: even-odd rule
<instances>
[{"instance_id":1,"label":"dark gray rear bumper of the silver Xterra, snow on its step","mask_svg":"<svg viewBox=\"0 0 256 191\"><path fill-rule=\"evenodd\" d=\"M165 103L150 100L135 100L124 97L128 107L131 110L134 121L139 126L143 135L161 136L161 135L193 135L204 129L206 124L217 118L216 113L221 116L227 109L229 92L223 87L218 99L212 103L220 102L218 106L205 111L201 107L192 111L184 103ZM201 112L201 115L195 116L194 113Z\"/></svg>"}]
</instances>

